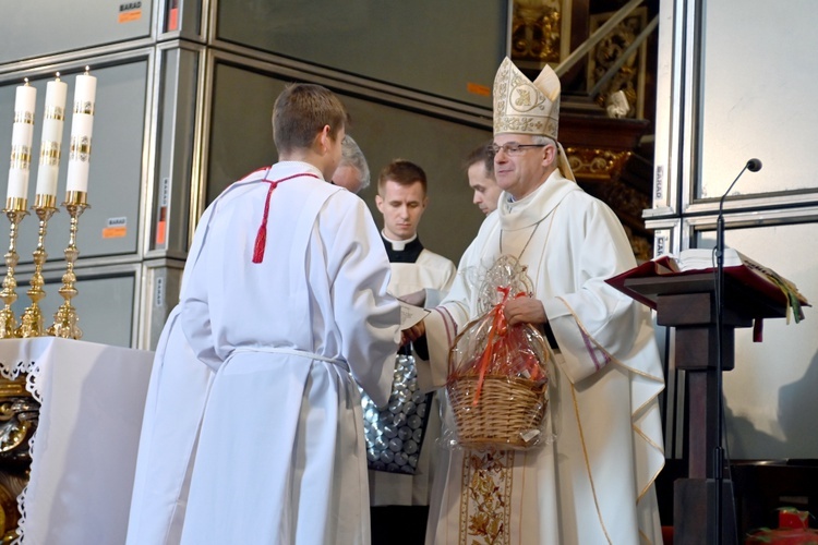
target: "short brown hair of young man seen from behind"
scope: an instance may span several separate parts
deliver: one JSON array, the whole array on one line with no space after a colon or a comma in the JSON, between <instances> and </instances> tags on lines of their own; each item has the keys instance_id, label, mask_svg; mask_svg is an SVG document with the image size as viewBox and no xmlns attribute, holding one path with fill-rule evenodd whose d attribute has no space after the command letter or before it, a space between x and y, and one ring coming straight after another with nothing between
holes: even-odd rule
<instances>
[{"instance_id":1,"label":"short brown hair of young man seen from behind","mask_svg":"<svg viewBox=\"0 0 818 545\"><path fill-rule=\"evenodd\" d=\"M273 141L279 154L311 147L326 125L335 140L338 131L348 124L347 108L321 85L290 84L273 106Z\"/></svg>"}]
</instances>

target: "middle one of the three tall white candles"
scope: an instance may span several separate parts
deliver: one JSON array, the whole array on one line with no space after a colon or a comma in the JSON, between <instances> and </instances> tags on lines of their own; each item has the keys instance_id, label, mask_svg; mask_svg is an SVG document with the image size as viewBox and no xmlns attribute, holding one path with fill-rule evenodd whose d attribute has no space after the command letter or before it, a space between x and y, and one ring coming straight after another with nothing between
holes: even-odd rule
<instances>
[{"instance_id":1,"label":"middle one of the three tall white candles","mask_svg":"<svg viewBox=\"0 0 818 545\"><path fill-rule=\"evenodd\" d=\"M68 85L57 80L46 85L46 112L43 120L43 140L37 170L37 195L57 195L57 173L60 168L62 124L65 119L65 95Z\"/></svg>"}]
</instances>

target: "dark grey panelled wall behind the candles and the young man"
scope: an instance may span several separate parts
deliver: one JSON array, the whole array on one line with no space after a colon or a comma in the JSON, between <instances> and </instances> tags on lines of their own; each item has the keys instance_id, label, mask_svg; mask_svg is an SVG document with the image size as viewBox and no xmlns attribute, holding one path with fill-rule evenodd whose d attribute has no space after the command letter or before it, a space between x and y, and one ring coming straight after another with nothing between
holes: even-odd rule
<instances>
[{"instance_id":1,"label":"dark grey panelled wall behind the candles and the young man","mask_svg":"<svg viewBox=\"0 0 818 545\"><path fill-rule=\"evenodd\" d=\"M0 111L9 122L0 149L10 149L15 87L28 77L38 88L29 206L46 83L59 71L70 102L76 74L87 65L97 77L91 207L79 220L72 301L83 339L156 346L204 207L234 179L276 160L269 114L291 81L320 83L347 102L350 133L372 170L361 197L375 217L383 166L401 157L426 170L431 205L420 237L457 262L483 219L461 160L491 136L490 90L508 50L508 11L505 0L323 1L309 9L245 0L89 0L82 10L56 0L3 3ZM69 114L58 204L70 125ZM21 223L17 240L17 315L29 304L35 219ZM46 322L62 303L67 244L62 209L46 238Z\"/></svg>"}]
</instances>

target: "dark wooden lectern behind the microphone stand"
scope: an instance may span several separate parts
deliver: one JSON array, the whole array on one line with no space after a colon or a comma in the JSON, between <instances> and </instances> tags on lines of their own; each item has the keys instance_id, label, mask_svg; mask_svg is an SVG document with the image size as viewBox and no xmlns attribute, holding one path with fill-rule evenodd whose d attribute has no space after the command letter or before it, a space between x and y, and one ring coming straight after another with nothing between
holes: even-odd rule
<instances>
[{"instance_id":1,"label":"dark wooden lectern behind the microphone stand","mask_svg":"<svg viewBox=\"0 0 818 545\"><path fill-rule=\"evenodd\" d=\"M654 308L659 325L676 328L676 368L684 370L687 377L688 471L686 479L674 483L673 542L710 543L718 523L713 452L720 444L717 403L721 395L717 382L715 274L658 275L649 262L609 282ZM734 366L735 328L751 327L761 318L784 317L784 301L783 294L779 301L769 290L760 291L725 269L722 371ZM732 483L726 479L722 483L722 543L733 545L737 535Z\"/></svg>"}]
</instances>

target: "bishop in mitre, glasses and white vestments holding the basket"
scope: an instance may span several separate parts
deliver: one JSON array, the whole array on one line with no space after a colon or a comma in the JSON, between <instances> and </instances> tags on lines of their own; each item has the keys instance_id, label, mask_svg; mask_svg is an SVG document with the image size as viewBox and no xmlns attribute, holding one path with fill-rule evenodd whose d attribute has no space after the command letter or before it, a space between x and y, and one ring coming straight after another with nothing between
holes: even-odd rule
<instances>
[{"instance_id":1,"label":"bishop in mitre, glasses and white vestments holding the basket","mask_svg":"<svg viewBox=\"0 0 818 545\"><path fill-rule=\"evenodd\" d=\"M494 167L504 192L466 250L448 298L428 316L419 375L445 384L453 338L476 318L480 270L507 254L533 296L509 324L546 329L556 351L553 443L528 451L449 450L432 492L428 544L661 543L653 481L662 469L662 368L646 307L604 280L635 266L611 209L574 181L557 144L560 80L530 82L509 59L494 82ZM444 425L453 425L450 414Z\"/></svg>"}]
</instances>

